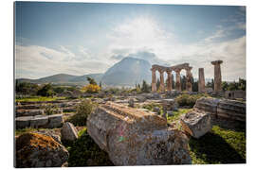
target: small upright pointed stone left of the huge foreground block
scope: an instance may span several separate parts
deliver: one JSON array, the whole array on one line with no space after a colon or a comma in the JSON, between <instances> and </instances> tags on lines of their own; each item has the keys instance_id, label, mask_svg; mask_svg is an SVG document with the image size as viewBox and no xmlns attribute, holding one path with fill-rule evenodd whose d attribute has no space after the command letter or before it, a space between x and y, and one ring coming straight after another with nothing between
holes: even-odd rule
<instances>
[{"instance_id":1,"label":"small upright pointed stone left of the huge foreground block","mask_svg":"<svg viewBox=\"0 0 256 170\"><path fill-rule=\"evenodd\" d=\"M75 141L78 139L78 130L73 124L65 122L61 129L62 141Z\"/></svg>"}]
</instances>

